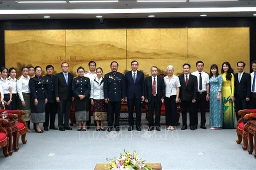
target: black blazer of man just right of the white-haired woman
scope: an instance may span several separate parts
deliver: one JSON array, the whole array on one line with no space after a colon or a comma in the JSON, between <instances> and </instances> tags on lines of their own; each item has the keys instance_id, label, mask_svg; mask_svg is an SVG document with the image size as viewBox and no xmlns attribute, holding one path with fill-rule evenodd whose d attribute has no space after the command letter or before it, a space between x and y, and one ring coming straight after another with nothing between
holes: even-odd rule
<instances>
[{"instance_id":1,"label":"black blazer of man just right of the white-haired woman","mask_svg":"<svg viewBox=\"0 0 256 170\"><path fill-rule=\"evenodd\" d=\"M196 100L197 97L197 77L189 74L188 86L185 84L185 74L179 75L180 79L180 95L181 101L192 101Z\"/></svg>"}]
</instances>

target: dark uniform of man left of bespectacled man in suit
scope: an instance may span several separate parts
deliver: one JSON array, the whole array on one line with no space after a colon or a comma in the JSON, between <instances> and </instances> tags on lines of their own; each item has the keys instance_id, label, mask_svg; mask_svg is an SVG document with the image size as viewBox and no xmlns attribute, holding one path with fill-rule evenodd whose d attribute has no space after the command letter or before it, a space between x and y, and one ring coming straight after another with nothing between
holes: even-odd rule
<instances>
[{"instance_id":1,"label":"dark uniform of man left of bespectacled man in suit","mask_svg":"<svg viewBox=\"0 0 256 170\"><path fill-rule=\"evenodd\" d=\"M45 122L44 122L44 129L47 130L49 126L50 120L50 129L55 129L55 115L57 113L57 101L54 95L54 80L55 75L44 75L43 76L45 82L45 89L47 93L47 103L45 105Z\"/></svg>"}]
</instances>

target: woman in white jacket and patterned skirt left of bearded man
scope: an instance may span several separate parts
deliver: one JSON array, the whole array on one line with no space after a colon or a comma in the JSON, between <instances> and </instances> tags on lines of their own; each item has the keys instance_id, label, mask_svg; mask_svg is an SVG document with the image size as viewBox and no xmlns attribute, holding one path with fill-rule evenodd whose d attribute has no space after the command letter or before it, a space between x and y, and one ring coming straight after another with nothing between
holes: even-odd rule
<instances>
[{"instance_id":1,"label":"woman in white jacket and patterned skirt left of bearded man","mask_svg":"<svg viewBox=\"0 0 256 170\"><path fill-rule=\"evenodd\" d=\"M107 104L104 101L103 70L101 67L96 69L97 77L91 82L91 104L94 108L93 119L97 123L97 131L105 131L104 121L107 120Z\"/></svg>"}]
</instances>

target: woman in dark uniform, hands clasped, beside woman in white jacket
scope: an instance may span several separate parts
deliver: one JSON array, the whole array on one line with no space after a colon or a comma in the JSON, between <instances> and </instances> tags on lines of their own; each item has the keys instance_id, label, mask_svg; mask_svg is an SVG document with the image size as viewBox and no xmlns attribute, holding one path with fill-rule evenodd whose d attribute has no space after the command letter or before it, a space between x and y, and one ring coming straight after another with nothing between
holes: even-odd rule
<instances>
[{"instance_id":1,"label":"woman in dark uniform, hands clasped, beside woman in white jacket","mask_svg":"<svg viewBox=\"0 0 256 170\"><path fill-rule=\"evenodd\" d=\"M72 82L72 92L75 96L75 116L78 122L77 131L86 131L86 121L89 120L91 83L89 78L84 77L83 67L78 67L77 73L78 77L74 78Z\"/></svg>"}]
</instances>

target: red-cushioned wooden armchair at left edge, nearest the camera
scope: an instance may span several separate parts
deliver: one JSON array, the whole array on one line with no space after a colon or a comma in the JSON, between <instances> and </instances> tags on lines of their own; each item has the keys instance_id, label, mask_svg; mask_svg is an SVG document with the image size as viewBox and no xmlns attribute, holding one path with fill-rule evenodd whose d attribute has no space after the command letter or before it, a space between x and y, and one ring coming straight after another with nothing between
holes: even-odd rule
<instances>
[{"instance_id":1,"label":"red-cushioned wooden armchair at left edge, nearest the camera","mask_svg":"<svg viewBox=\"0 0 256 170\"><path fill-rule=\"evenodd\" d=\"M3 153L5 157L9 156L9 137L7 137L7 131L3 128L2 124L7 121L3 118L0 118L0 148L3 148Z\"/></svg>"}]
</instances>

